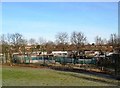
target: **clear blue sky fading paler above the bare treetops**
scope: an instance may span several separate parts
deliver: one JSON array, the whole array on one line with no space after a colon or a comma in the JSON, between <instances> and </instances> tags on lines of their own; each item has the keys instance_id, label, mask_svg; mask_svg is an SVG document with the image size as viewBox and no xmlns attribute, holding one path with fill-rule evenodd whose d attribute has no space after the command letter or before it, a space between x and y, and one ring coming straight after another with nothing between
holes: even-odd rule
<instances>
[{"instance_id":1,"label":"clear blue sky fading paler above the bare treetops","mask_svg":"<svg viewBox=\"0 0 120 88\"><path fill-rule=\"evenodd\" d=\"M118 33L117 2L3 2L2 33L55 40L58 32L83 32L88 42Z\"/></svg>"}]
</instances>

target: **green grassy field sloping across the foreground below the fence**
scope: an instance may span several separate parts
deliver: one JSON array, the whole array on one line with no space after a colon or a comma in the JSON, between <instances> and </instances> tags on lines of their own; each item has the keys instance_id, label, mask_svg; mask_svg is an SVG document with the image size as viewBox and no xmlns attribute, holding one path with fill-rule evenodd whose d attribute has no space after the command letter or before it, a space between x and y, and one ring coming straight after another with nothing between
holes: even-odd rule
<instances>
[{"instance_id":1,"label":"green grassy field sloping across the foreground below the fence","mask_svg":"<svg viewBox=\"0 0 120 88\"><path fill-rule=\"evenodd\" d=\"M115 86L117 80L48 68L2 66L3 86Z\"/></svg>"}]
</instances>

